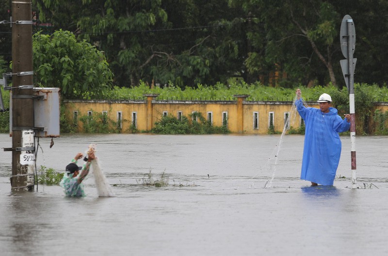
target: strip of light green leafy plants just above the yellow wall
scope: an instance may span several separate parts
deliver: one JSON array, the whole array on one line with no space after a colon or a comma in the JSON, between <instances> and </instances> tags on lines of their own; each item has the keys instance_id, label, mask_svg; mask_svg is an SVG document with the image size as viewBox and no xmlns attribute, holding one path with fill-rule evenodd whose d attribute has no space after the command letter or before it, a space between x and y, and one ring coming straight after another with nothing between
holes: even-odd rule
<instances>
[{"instance_id":1,"label":"strip of light green leafy plants just above the yellow wall","mask_svg":"<svg viewBox=\"0 0 388 256\"><path fill-rule=\"evenodd\" d=\"M114 87L104 95L104 99L144 99L144 94L159 94L157 99L160 100L236 100L233 95L249 95L248 101L294 101L295 89L300 88L302 97L306 101L316 101L318 97L327 93L335 97L340 92L341 99L349 100L347 89L339 90L334 85L315 86L307 88L302 85L295 85L294 88L280 88L265 86L259 82L247 84L245 82L233 82L231 84L216 83L213 86L197 84L196 88L186 87L181 89L174 84L165 87L155 86L151 88L146 82L141 82L139 86L133 88ZM375 84L355 84L356 104L358 89L369 92L368 100L371 102L388 102L388 88L379 87ZM363 97L363 96L361 96ZM333 99L333 104L337 100ZM340 100L339 102L343 102ZM349 106L349 104L348 104ZM357 107L357 106L356 106Z\"/></svg>"}]
</instances>

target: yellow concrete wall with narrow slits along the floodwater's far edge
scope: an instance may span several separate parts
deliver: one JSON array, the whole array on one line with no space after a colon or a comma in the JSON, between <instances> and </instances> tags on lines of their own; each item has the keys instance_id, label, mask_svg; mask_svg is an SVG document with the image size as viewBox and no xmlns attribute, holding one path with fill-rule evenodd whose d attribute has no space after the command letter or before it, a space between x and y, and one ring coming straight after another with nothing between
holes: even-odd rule
<instances>
[{"instance_id":1,"label":"yellow concrete wall with narrow slits along the floodwater's far edge","mask_svg":"<svg viewBox=\"0 0 388 256\"><path fill-rule=\"evenodd\" d=\"M152 100L153 97L148 97ZM318 104L308 102L310 107L318 108ZM168 101L152 100L152 126L162 118L163 112L178 117L178 111L183 116L189 118L192 112L200 112L207 119L208 112L212 112L213 125L222 126L223 112L227 112L227 127L232 133L243 132L245 134L267 134L269 128L270 112L274 114L274 128L276 132L281 132L284 128L284 116L286 112L290 114L290 127L299 128L300 116L292 107L291 102L251 102L242 101L242 113L238 113L237 101ZM147 100L144 101L93 101L93 100L68 100L65 101L68 120L73 120L73 112L78 111L78 116L87 115L88 111L101 113L108 112L108 117L116 121L117 112L122 112L121 132L129 132L132 122L132 112L137 115L137 129L149 130L147 128ZM376 106L376 109L388 111L388 105ZM253 128L254 112L259 112L259 128ZM242 114L242 117L240 116ZM239 122L242 122L242 131ZM82 123L78 122L79 130Z\"/></svg>"}]
</instances>

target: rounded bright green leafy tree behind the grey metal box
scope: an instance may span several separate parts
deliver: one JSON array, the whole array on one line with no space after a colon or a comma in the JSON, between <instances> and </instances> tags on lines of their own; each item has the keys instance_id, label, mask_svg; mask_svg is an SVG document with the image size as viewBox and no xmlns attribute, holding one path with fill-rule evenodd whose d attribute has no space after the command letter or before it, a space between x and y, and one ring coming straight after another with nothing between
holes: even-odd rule
<instances>
[{"instance_id":1,"label":"rounded bright green leafy tree behind the grey metal box","mask_svg":"<svg viewBox=\"0 0 388 256\"><path fill-rule=\"evenodd\" d=\"M61 88L65 98L101 97L111 88L113 74L103 52L77 41L68 31L51 36L33 35L35 82L43 87Z\"/></svg>"}]
</instances>

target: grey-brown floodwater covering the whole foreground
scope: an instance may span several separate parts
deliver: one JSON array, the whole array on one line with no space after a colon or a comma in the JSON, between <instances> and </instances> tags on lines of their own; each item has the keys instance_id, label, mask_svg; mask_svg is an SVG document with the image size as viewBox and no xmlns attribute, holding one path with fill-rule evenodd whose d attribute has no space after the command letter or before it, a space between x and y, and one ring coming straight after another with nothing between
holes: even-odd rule
<instances>
[{"instance_id":1,"label":"grey-brown floodwater covering the whole foreground","mask_svg":"<svg viewBox=\"0 0 388 256\"><path fill-rule=\"evenodd\" d=\"M83 198L66 198L59 186L11 192L11 152L1 149L0 254L388 255L388 137L356 138L359 189L350 189L349 137L341 137L334 186L318 187L299 179L304 136L286 135L280 150L279 140L77 134L49 148L40 139L37 166L57 171L97 144L109 198L97 197L93 175ZM0 148L11 146L0 134ZM169 186L143 185L149 172L164 173Z\"/></svg>"}]
</instances>

